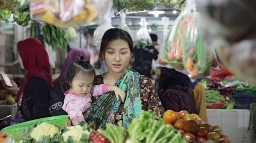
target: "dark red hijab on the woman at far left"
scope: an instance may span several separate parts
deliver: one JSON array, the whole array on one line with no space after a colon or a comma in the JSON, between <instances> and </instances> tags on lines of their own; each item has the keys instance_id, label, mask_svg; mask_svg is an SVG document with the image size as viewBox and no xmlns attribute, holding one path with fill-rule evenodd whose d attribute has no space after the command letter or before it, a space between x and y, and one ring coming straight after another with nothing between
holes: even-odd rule
<instances>
[{"instance_id":1,"label":"dark red hijab on the woman at far left","mask_svg":"<svg viewBox=\"0 0 256 143\"><path fill-rule=\"evenodd\" d=\"M53 87L51 66L44 45L38 39L28 38L23 41L19 41L17 47L24 68L27 70L27 75L25 76L24 82L18 91L16 102L20 99L29 78L32 76L44 80L47 79Z\"/></svg>"}]
</instances>

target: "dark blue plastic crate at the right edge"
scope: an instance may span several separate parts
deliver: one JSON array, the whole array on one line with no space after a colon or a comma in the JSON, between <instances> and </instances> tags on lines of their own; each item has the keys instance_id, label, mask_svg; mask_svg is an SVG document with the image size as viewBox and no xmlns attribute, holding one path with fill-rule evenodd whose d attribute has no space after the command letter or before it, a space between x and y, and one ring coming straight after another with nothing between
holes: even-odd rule
<instances>
[{"instance_id":1,"label":"dark blue plastic crate at the right edge","mask_svg":"<svg viewBox=\"0 0 256 143\"><path fill-rule=\"evenodd\" d=\"M232 98L234 98L240 104L234 106L236 109L249 109L250 104L256 102L256 96L247 94L232 95Z\"/></svg>"}]
</instances>

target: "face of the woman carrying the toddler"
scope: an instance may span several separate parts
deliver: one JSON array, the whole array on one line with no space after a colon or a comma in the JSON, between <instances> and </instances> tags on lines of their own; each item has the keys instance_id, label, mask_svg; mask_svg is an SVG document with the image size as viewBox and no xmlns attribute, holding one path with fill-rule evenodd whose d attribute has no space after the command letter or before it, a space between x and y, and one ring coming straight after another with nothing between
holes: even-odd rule
<instances>
[{"instance_id":1,"label":"face of the woman carrying the toddler","mask_svg":"<svg viewBox=\"0 0 256 143\"><path fill-rule=\"evenodd\" d=\"M131 50L128 43L120 38L109 41L104 53L104 59L109 71L124 73L131 59Z\"/></svg>"}]
</instances>

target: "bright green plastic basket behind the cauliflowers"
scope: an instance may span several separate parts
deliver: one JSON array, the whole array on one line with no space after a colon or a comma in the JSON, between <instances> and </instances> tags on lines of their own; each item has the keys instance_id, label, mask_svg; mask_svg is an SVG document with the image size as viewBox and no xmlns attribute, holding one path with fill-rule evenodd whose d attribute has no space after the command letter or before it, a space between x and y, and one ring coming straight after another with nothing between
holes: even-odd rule
<instances>
[{"instance_id":1,"label":"bright green plastic basket behind the cauliflowers","mask_svg":"<svg viewBox=\"0 0 256 143\"><path fill-rule=\"evenodd\" d=\"M31 127L34 124L40 125L43 122L47 122L56 126L64 127L66 125L66 119L68 115L60 115L60 116L52 116L46 118L40 118L36 120L31 120L23 123L18 123L15 125L11 125L9 127L5 127L2 131L6 132L8 136L13 136L15 141L22 140L22 130L26 129L27 127Z\"/></svg>"}]
</instances>

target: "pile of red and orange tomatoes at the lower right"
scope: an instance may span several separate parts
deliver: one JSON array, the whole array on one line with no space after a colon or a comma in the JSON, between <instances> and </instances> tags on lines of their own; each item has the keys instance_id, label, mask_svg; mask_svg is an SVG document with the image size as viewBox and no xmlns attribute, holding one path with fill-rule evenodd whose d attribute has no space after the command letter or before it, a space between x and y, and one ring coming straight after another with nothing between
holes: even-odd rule
<instances>
[{"instance_id":1,"label":"pile of red and orange tomatoes at the lower right","mask_svg":"<svg viewBox=\"0 0 256 143\"><path fill-rule=\"evenodd\" d=\"M166 125L181 130L183 138L188 142L212 140L216 143L230 143L230 138L223 135L220 126L205 123L197 114L189 114L185 110L167 110L163 114L163 120Z\"/></svg>"}]
</instances>

